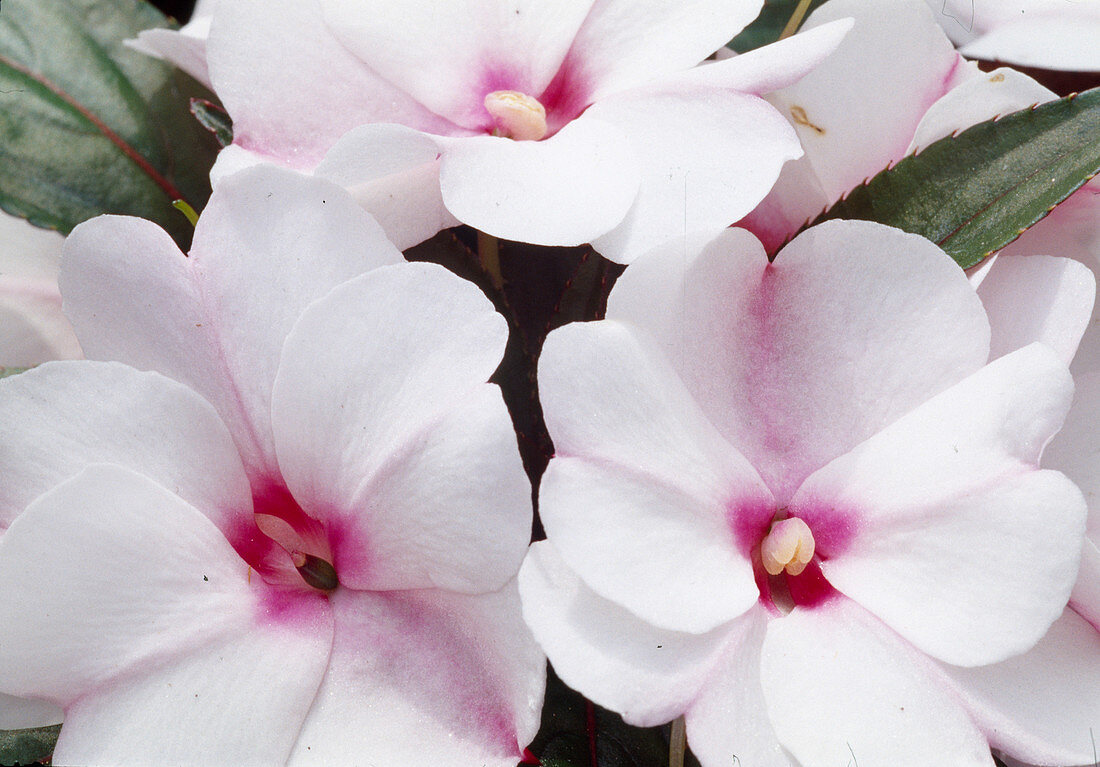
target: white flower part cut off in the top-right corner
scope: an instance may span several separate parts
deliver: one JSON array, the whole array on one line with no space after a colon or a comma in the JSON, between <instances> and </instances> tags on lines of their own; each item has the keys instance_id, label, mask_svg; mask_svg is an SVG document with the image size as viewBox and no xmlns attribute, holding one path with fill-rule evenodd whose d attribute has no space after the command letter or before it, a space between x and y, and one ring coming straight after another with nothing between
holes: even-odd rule
<instances>
[{"instance_id":1,"label":"white flower part cut off in the top-right corner","mask_svg":"<svg viewBox=\"0 0 1100 767\"><path fill-rule=\"evenodd\" d=\"M1097 0L925 0L970 58L1100 72Z\"/></svg>"}]
</instances>

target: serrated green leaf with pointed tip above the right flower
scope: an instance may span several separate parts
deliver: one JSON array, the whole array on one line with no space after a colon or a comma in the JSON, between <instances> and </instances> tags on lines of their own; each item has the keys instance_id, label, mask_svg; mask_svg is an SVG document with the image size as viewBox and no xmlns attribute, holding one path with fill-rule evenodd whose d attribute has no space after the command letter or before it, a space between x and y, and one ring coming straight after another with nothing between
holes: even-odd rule
<instances>
[{"instance_id":1,"label":"serrated green leaf with pointed tip above the right flower","mask_svg":"<svg viewBox=\"0 0 1100 767\"><path fill-rule=\"evenodd\" d=\"M1004 248L1100 171L1100 88L942 139L813 223L864 219L921 234L964 269Z\"/></svg>"}]
</instances>

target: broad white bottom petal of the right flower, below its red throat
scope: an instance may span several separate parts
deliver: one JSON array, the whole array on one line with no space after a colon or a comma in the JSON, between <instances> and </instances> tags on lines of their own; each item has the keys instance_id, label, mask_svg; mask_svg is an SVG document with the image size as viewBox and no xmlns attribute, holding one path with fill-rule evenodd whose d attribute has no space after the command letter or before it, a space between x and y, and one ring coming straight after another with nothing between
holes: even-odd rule
<instances>
[{"instance_id":1,"label":"broad white bottom petal of the right flower, below its red throat","mask_svg":"<svg viewBox=\"0 0 1100 767\"><path fill-rule=\"evenodd\" d=\"M840 598L768 625L761 680L800 764L992 767L986 738L930 661Z\"/></svg>"}]
</instances>

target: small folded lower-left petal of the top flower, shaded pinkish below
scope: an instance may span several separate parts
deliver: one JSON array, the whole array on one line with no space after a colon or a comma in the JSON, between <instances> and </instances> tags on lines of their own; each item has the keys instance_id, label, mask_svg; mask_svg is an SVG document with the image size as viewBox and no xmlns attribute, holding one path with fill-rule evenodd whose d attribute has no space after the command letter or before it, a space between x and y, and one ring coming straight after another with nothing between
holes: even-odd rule
<instances>
[{"instance_id":1,"label":"small folded lower-left petal of the top flower, shaded pinkish below","mask_svg":"<svg viewBox=\"0 0 1100 767\"><path fill-rule=\"evenodd\" d=\"M459 221L443 206L439 145L404 125L362 125L344 134L314 175L348 189L406 250Z\"/></svg>"}]
</instances>

